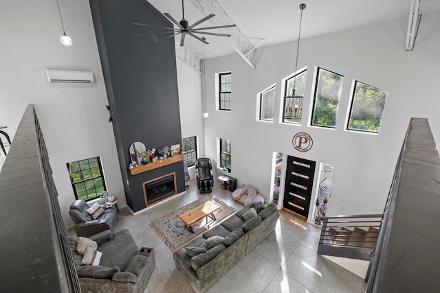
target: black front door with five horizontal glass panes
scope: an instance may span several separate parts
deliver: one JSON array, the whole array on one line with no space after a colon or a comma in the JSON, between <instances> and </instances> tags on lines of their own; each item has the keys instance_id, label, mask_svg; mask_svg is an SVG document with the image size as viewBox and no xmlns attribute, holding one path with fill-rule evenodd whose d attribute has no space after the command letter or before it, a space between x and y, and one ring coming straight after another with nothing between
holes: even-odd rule
<instances>
[{"instance_id":1,"label":"black front door with five horizontal glass panes","mask_svg":"<svg viewBox=\"0 0 440 293\"><path fill-rule=\"evenodd\" d=\"M287 156L283 207L306 218L309 215L315 166L314 161Z\"/></svg>"}]
</instances>

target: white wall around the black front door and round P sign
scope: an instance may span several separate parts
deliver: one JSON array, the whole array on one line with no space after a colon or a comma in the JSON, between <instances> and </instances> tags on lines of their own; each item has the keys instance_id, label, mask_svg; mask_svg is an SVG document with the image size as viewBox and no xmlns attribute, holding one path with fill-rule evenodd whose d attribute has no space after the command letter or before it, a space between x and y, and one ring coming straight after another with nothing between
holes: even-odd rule
<instances>
[{"instance_id":1,"label":"white wall around the black front door and round P sign","mask_svg":"<svg viewBox=\"0 0 440 293\"><path fill-rule=\"evenodd\" d=\"M410 117L427 117L434 137L440 137L440 13L423 15L414 51L404 51L407 19L362 27L338 34L301 40L298 68L307 66L303 112L311 102L314 67L344 75L335 130L255 120L255 95L276 82L274 121L281 105L281 79L294 71L296 43L259 49L259 62L251 69L237 54L207 60L208 112L206 156L217 157L216 138L232 143L232 176L254 185L270 200L272 152L334 166L327 215L382 213L397 156ZM215 110L214 73L232 72L232 111ZM388 92L378 135L344 131L353 79ZM292 137L307 132L314 147L294 150ZM318 168L316 170L316 178ZM316 187L316 186L315 186ZM314 190L312 194L316 194ZM309 214L309 218L313 215Z\"/></svg>"}]
</instances>

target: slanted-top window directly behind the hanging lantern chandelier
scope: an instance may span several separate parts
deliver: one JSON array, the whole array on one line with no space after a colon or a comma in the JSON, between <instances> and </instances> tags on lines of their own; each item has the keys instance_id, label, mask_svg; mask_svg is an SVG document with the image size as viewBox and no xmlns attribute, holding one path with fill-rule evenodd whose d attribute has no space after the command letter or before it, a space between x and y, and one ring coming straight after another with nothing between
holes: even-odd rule
<instances>
[{"instance_id":1,"label":"slanted-top window directly behind the hanging lantern chandelier","mask_svg":"<svg viewBox=\"0 0 440 293\"><path fill-rule=\"evenodd\" d=\"M307 70L301 71L286 80L284 88L283 122L301 123L306 73Z\"/></svg>"}]
</instances>

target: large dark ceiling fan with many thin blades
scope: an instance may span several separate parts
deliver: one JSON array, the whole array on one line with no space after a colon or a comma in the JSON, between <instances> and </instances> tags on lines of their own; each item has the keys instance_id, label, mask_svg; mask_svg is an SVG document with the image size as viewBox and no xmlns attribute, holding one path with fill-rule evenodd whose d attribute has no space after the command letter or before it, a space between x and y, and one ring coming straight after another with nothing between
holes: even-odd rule
<instances>
[{"instance_id":1,"label":"large dark ceiling fan with many thin blades","mask_svg":"<svg viewBox=\"0 0 440 293\"><path fill-rule=\"evenodd\" d=\"M133 25L142 25L142 26L146 26L146 27L161 27L163 29L166 30L170 30L170 32L165 32L166 34L171 34L170 36L166 36L165 38L161 38L160 40L156 40L155 42L153 42L153 44L155 43L159 43L162 40L166 40L167 38L173 38L173 36L177 36L178 34L181 34L181 38L180 38L180 45L183 46L184 42L185 42L185 37L188 34L189 36L192 36L193 38L197 38L197 40L205 43L205 44L209 44L206 41L206 38L200 38L199 36L196 36L195 34L210 34L212 36L231 36L230 34L219 34L219 33L214 33L214 32L203 32L204 30L212 30L212 29L221 29L221 28L225 28L225 27L234 27L235 25L217 25L217 26L213 26L213 27L200 27L200 28L195 28L197 25L199 25L200 23L203 23L204 21L207 21L208 19L211 19L212 17L215 16L215 14L209 14L208 16L203 17L203 19L200 19L199 21L196 21L195 23L192 23L192 25L188 25L188 21L186 21L185 19L185 13L184 13L184 0L181 0L181 21L176 21L173 16L170 16L170 14L168 13L164 13L164 15L173 23L175 23L175 25L177 25L177 27L179 27L178 29L170 28L170 27L162 27L159 25L147 25L144 23L133 23ZM135 34L133 36L142 36L144 34Z\"/></svg>"}]
</instances>

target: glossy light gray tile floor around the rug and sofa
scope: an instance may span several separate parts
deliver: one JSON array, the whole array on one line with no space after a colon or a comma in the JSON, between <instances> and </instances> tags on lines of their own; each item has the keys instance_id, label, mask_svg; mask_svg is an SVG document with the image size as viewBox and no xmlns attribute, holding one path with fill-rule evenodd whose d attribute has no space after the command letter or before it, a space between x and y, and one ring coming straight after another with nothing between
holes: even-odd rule
<instances>
[{"instance_id":1,"label":"glossy light gray tile floor around the rug and sofa","mask_svg":"<svg viewBox=\"0 0 440 293\"><path fill-rule=\"evenodd\" d=\"M149 226L162 215L206 196L199 193L195 181L186 191L139 215L128 208L120 209L116 230L129 228L137 246L155 248L156 268L144 293L193 292L175 268L170 249ZM230 191L221 189L220 183L215 183L212 195L237 210L243 207L232 200ZM300 229L278 220L275 231L207 292L365 292L362 278L316 253L319 234L315 226L307 224Z\"/></svg>"}]
</instances>

